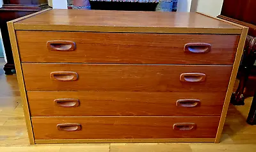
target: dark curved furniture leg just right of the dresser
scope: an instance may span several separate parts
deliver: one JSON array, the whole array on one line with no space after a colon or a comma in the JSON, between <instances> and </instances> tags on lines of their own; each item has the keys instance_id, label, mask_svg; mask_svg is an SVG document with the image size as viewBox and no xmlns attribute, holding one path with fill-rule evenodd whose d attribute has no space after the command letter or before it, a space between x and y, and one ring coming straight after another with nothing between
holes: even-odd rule
<instances>
[{"instance_id":1,"label":"dark curved furniture leg just right of the dresser","mask_svg":"<svg viewBox=\"0 0 256 152\"><path fill-rule=\"evenodd\" d=\"M255 53L256 38L247 36L246 44L244 46L243 61L239 67L239 73L241 73L239 78L239 86L236 90L236 93L232 94L230 100L233 105L244 105L244 87L255 63Z\"/></svg>"}]
</instances>

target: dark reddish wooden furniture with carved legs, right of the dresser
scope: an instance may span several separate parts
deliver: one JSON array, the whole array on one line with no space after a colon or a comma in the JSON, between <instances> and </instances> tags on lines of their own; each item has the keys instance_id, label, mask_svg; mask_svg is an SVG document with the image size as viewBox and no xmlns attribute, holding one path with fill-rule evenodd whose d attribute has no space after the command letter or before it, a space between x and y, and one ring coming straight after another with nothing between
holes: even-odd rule
<instances>
[{"instance_id":1,"label":"dark reddish wooden furniture with carved legs, right of the dresser","mask_svg":"<svg viewBox=\"0 0 256 152\"><path fill-rule=\"evenodd\" d=\"M244 87L248 81L249 76L256 76L256 68L254 66L256 59L256 1L250 0L225 0L221 10L221 19L236 22L243 26L249 27L248 36L246 38L246 44L244 46L244 54L237 79L239 79L239 86L236 93L233 93L230 102L233 105L244 105ZM256 117L256 101L255 96L253 98L252 107L248 115L247 122L250 125L255 125ZM254 120L253 120L254 119Z\"/></svg>"}]
</instances>

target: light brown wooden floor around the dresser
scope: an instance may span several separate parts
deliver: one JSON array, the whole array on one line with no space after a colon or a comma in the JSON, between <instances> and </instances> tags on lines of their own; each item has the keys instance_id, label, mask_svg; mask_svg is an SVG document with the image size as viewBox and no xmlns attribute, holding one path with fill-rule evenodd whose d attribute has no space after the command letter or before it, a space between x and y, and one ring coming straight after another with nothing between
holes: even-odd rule
<instances>
[{"instance_id":1,"label":"light brown wooden floor around the dresser","mask_svg":"<svg viewBox=\"0 0 256 152\"><path fill-rule=\"evenodd\" d=\"M90 151L90 152L216 152L256 151L256 125L246 123L252 98L246 105L230 105L220 144L162 143L162 144L39 144L29 145L19 88L15 75L4 75L4 60L0 59L0 151Z\"/></svg>"}]
</instances>

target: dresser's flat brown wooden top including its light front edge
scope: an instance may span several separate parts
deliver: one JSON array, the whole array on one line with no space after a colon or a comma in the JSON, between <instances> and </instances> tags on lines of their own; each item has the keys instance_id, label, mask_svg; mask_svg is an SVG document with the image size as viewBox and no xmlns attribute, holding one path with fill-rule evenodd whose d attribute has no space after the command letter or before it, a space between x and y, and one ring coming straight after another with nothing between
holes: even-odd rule
<instances>
[{"instance_id":1,"label":"dresser's flat brown wooden top including its light front edge","mask_svg":"<svg viewBox=\"0 0 256 152\"><path fill-rule=\"evenodd\" d=\"M61 19L61 20L60 20ZM138 33L241 34L242 28L199 13L50 10L16 22L15 29Z\"/></svg>"}]
</instances>

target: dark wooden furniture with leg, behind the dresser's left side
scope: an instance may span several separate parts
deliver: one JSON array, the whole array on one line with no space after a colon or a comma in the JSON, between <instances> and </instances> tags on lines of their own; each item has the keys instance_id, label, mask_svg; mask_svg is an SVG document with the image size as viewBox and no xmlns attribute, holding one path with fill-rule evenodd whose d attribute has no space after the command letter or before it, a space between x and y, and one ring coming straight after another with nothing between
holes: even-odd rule
<instances>
[{"instance_id":1,"label":"dark wooden furniture with leg, behind the dresser's left side","mask_svg":"<svg viewBox=\"0 0 256 152\"><path fill-rule=\"evenodd\" d=\"M3 7L0 8L0 28L3 38L4 50L7 58L7 63L4 65L6 75L13 74L15 70L12 48L10 44L9 33L6 22L35 13L36 11L50 8L47 0L4 0Z\"/></svg>"}]
</instances>

